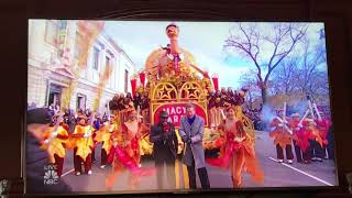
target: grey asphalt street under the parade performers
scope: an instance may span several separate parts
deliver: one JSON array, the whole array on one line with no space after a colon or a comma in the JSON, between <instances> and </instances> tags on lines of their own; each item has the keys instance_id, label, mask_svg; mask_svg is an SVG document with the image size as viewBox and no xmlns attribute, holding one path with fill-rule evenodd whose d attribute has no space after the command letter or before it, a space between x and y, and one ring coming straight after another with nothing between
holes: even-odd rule
<instances>
[{"instance_id":1,"label":"grey asphalt street under the parade performers","mask_svg":"<svg viewBox=\"0 0 352 198\"><path fill-rule=\"evenodd\" d=\"M266 132L256 132L256 154L260 160L261 168L264 172L264 184L256 184L251 180L249 174L243 173L243 187L306 187L306 186L334 186L337 176L334 173L334 162L324 160L312 164L277 163L276 152L273 140ZM74 175L73 152L68 151L64 164L62 179L72 186L76 193L102 193L107 191L105 186L106 177L111 173L111 167L100 168L100 145L96 148L97 162L92 166L92 175ZM143 167L154 166L151 157L142 160ZM230 172L218 167L208 166L208 175L211 188L232 188ZM128 193L129 190L148 191L157 190L156 176L145 176L140 178L138 188L132 189L128 178L130 173L127 170L118 177L112 188L113 193ZM197 186L200 183L197 176ZM174 188L175 189L175 188ZM184 189L183 176L180 172L180 189ZM111 190L110 190L111 191Z\"/></svg>"}]
</instances>

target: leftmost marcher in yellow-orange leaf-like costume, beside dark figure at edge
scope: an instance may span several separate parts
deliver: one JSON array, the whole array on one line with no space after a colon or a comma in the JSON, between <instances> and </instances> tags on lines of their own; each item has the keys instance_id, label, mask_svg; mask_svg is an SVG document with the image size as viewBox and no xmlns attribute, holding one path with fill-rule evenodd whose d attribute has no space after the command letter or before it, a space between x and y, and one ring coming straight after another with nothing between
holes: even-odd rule
<instances>
[{"instance_id":1,"label":"leftmost marcher in yellow-orange leaf-like costume, beside dark figure at edge","mask_svg":"<svg viewBox=\"0 0 352 198\"><path fill-rule=\"evenodd\" d=\"M56 113L54 116L54 127L51 127L47 132L44 133L43 148L47 150L50 155L50 162L55 164L57 169L57 176L62 176L64 160L66 156L65 144L68 140L68 125L64 123L64 113Z\"/></svg>"}]
</instances>

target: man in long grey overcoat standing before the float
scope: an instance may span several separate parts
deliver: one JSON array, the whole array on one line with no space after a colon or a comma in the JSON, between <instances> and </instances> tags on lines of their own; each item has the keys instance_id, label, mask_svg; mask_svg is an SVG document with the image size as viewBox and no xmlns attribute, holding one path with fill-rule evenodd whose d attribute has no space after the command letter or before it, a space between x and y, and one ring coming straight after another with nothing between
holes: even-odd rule
<instances>
[{"instance_id":1,"label":"man in long grey overcoat standing before the float","mask_svg":"<svg viewBox=\"0 0 352 198\"><path fill-rule=\"evenodd\" d=\"M209 189L210 183L206 168L205 150L202 147L202 136L205 132L205 121L196 114L195 106L189 103L186 107L187 117L180 119L179 135L186 143L183 163L187 165L189 188L196 189L196 170L202 189Z\"/></svg>"}]
</instances>

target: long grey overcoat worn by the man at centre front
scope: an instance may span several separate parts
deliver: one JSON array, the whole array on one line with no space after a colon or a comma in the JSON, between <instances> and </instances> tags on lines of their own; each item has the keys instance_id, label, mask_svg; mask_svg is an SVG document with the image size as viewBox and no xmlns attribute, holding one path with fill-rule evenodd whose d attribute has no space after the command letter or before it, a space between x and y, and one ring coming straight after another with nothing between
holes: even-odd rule
<instances>
[{"instance_id":1,"label":"long grey overcoat worn by the man at centre front","mask_svg":"<svg viewBox=\"0 0 352 198\"><path fill-rule=\"evenodd\" d=\"M179 135L188 136L191 144L186 144L186 151L183 157L183 163L191 166L193 157L195 160L196 168L206 166L205 150L202 147L202 136L205 132L205 121L201 117L196 114L194 123L190 125L187 117L180 119Z\"/></svg>"}]
</instances>

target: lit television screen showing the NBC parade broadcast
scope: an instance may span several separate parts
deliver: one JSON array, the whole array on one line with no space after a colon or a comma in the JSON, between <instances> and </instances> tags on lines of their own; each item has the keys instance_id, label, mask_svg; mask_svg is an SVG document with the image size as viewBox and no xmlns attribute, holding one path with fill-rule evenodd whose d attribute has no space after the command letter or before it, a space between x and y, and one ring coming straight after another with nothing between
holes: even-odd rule
<instances>
[{"instance_id":1,"label":"lit television screen showing the NBC parade broadcast","mask_svg":"<svg viewBox=\"0 0 352 198\"><path fill-rule=\"evenodd\" d=\"M28 194L338 186L324 24L29 20Z\"/></svg>"}]
</instances>

